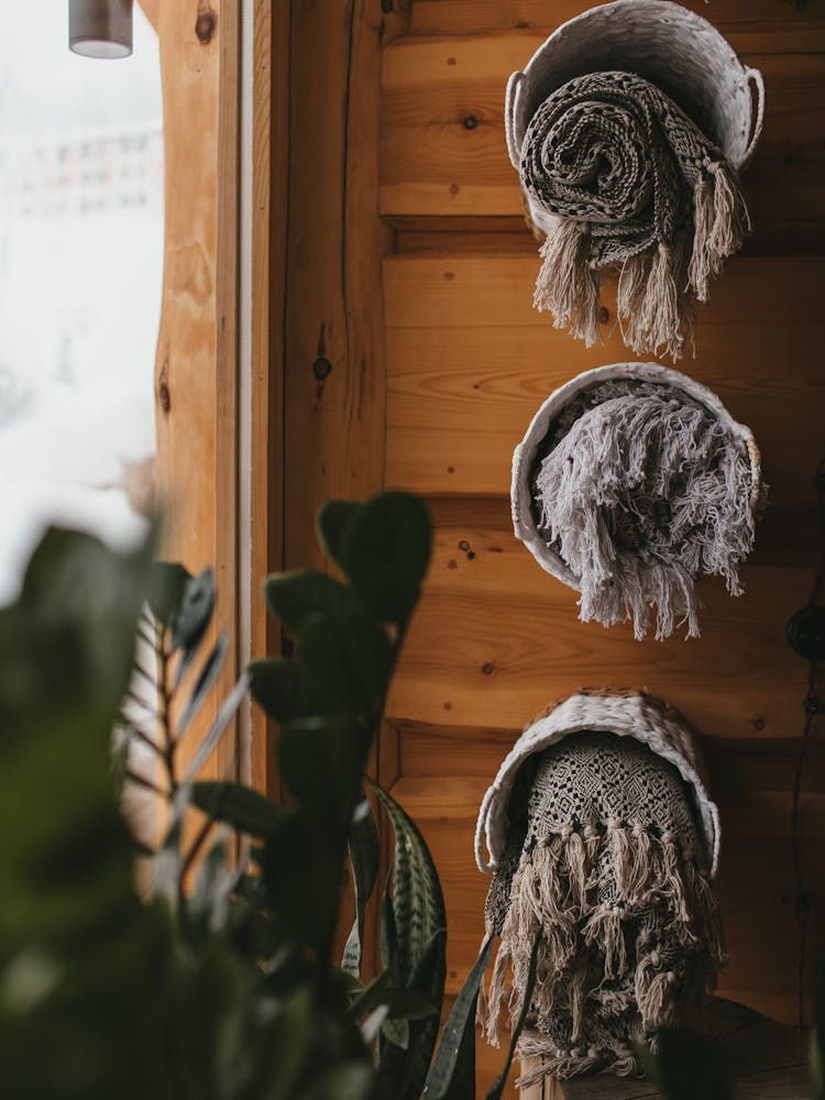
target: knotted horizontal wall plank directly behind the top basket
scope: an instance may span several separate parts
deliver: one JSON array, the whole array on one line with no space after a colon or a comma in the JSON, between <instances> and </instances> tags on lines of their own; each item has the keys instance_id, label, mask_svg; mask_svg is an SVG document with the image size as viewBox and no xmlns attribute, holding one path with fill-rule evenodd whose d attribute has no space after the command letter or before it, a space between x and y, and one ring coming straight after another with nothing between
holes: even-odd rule
<instances>
[{"instance_id":1,"label":"knotted horizontal wall plank directly behind the top basket","mask_svg":"<svg viewBox=\"0 0 825 1100\"><path fill-rule=\"evenodd\" d=\"M504 142L504 89L543 35L408 37L385 53L381 210L395 221L457 216L521 218L518 177ZM825 33L811 34L825 48ZM777 46L780 50L781 45ZM767 86L765 132L746 176L756 235L800 223L823 235L820 102L825 54L752 54Z\"/></svg>"}]
</instances>

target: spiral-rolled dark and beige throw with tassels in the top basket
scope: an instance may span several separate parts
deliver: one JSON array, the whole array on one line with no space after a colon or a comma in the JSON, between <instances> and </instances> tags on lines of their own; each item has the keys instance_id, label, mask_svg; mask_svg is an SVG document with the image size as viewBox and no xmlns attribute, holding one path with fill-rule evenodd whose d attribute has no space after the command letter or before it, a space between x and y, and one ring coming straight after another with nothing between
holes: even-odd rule
<instances>
[{"instance_id":1,"label":"spiral-rolled dark and beige throw with tassels in the top basket","mask_svg":"<svg viewBox=\"0 0 825 1100\"><path fill-rule=\"evenodd\" d=\"M598 272L620 267L625 343L678 359L693 330L691 292L741 246L750 219L736 169L657 87L630 73L575 77L539 107L521 183L562 221L541 249L534 305L590 346Z\"/></svg>"}]
</instances>

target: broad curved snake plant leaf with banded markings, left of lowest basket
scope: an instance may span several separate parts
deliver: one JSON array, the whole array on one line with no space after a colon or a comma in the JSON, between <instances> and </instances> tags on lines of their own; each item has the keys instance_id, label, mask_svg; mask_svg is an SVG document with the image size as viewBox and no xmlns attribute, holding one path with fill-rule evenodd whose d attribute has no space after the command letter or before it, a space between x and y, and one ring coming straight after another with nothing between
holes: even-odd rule
<instances>
[{"instance_id":1,"label":"broad curved snake plant leaf with banded markings, left of lowest basket","mask_svg":"<svg viewBox=\"0 0 825 1100\"><path fill-rule=\"evenodd\" d=\"M444 898L436 865L415 822L372 780L395 832L393 912L398 937L399 985L407 985L432 937L447 927ZM439 998L440 1001L440 998Z\"/></svg>"}]
</instances>

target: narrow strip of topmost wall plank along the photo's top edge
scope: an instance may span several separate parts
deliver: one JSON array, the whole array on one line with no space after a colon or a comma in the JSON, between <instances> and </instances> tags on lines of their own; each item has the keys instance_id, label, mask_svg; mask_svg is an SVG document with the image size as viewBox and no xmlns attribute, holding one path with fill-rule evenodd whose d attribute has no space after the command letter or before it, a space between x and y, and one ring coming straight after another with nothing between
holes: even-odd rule
<instances>
[{"instance_id":1,"label":"narrow strip of topmost wall plank along the photo's top edge","mask_svg":"<svg viewBox=\"0 0 825 1100\"><path fill-rule=\"evenodd\" d=\"M552 8L546 0L416 0L410 33L481 34L512 29L547 35L587 7L581 0L556 0ZM825 20L823 0L794 6L785 0L686 0L683 7L710 20L732 41L736 36L736 48L744 52L765 48L778 36L787 50L815 48L812 36L822 33Z\"/></svg>"}]
</instances>

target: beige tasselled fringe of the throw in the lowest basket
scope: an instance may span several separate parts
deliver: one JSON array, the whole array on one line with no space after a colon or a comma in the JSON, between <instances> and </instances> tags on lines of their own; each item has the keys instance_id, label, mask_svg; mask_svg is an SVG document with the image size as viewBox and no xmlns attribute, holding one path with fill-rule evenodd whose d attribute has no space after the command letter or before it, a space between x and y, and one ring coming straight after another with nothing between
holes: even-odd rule
<instances>
[{"instance_id":1,"label":"beige tasselled fringe of the throw in the lowest basket","mask_svg":"<svg viewBox=\"0 0 825 1100\"><path fill-rule=\"evenodd\" d=\"M610 820L601 831L565 826L522 854L490 990L482 990L477 1004L479 1025L494 1046L503 1019L513 1026L519 1014L539 932L532 1030L522 1036L519 1055L540 1056L541 1068L528 1072L522 1087L546 1074L568 1078L596 1066L636 1072L629 1048L606 1055L576 1047L585 1018L636 1020L649 1038L682 1022L724 961L706 871L683 854L675 834L640 822ZM540 1030L557 1013L572 1022L570 1050Z\"/></svg>"}]
</instances>

